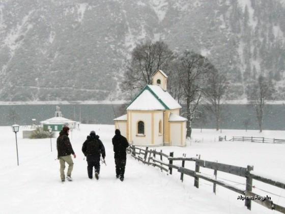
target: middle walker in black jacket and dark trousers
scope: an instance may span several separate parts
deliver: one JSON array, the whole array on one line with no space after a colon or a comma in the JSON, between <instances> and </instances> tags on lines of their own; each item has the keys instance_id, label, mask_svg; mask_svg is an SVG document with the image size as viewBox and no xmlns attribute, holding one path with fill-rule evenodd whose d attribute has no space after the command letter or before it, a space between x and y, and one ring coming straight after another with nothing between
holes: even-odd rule
<instances>
[{"instance_id":1,"label":"middle walker in black jacket and dark trousers","mask_svg":"<svg viewBox=\"0 0 285 214\"><path fill-rule=\"evenodd\" d=\"M82 152L87 157L87 172L90 179L93 178L93 167L95 168L95 178L99 179L100 174L100 157L102 154L103 160L105 160L105 147L99 136L95 131L91 131L87 136L87 140L82 145Z\"/></svg>"}]
</instances>

